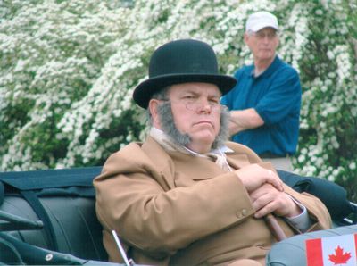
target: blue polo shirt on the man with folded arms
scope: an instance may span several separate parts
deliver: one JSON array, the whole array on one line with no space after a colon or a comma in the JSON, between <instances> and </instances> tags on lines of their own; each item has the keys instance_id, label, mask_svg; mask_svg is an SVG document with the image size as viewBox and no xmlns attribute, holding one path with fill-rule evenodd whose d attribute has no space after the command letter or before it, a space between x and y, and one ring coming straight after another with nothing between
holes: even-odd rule
<instances>
[{"instance_id":1,"label":"blue polo shirt on the man with folded arms","mask_svg":"<svg viewBox=\"0 0 357 266\"><path fill-rule=\"evenodd\" d=\"M232 140L257 154L295 154L302 97L299 75L278 56L258 77L254 77L253 70L253 65L237 70L237 85L222 96L221 104L229 110L254 108L264 124L239 132Z\"/></svg>"}]
</instances>

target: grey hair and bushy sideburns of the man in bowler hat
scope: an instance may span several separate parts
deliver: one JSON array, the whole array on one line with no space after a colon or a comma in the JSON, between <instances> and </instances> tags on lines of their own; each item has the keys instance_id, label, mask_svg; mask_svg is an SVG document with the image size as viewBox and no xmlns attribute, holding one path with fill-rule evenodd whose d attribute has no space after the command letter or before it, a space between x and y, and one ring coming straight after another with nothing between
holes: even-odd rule
<instances>
[{"instance_id":1,"label":"grey hair and bushy sideburns of the man in bowler hat","mask_svg":"<svg viewBox=\"0 0 357 266\"><path fill-rule=\"evenodd\" d=\"M170 87L164 87L159 92L155 93L152 96L152 99L157 100L168 100L168 92ZM172 138L179 145L188 145L191 142L191 137L188 134L182 134L179 132L179 129L176 127L173 114L171 110L170 101L163 102L158 105L158 115L162 126L162 131L165 132L168 136ZM146 110L149 126L153 126L153 119L150 114L150 111ZM212 143L212 149L220 148L229 138L229 117L228 108L226 106L221 106L220 112L220 132Z\"/></svg>"}]
</instances>

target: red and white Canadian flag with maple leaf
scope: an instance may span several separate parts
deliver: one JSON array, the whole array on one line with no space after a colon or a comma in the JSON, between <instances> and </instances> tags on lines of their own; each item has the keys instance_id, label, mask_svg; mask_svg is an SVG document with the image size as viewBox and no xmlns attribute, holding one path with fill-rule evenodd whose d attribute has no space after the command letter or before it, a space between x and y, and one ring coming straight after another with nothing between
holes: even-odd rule
<instances>
[{"instance_id":1,"label":"red and white Canadian flag with maple leaf","mask_svg":"<svg viewBox=\"0 0 357 266\"><path fill-rule=\"evenodd\" d=\"M356 266L357 234L306 240L308 266Z\"/></svg>"}]
</instances>

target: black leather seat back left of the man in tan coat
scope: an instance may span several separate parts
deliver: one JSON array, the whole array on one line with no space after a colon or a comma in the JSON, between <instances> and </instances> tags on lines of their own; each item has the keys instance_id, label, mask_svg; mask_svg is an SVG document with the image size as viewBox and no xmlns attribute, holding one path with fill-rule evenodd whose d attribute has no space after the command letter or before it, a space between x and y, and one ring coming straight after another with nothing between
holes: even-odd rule
<instances>
[{"instance_id":1,"label":"black leather seat back left of the man in tan coat","mask_svg":"<svg viewBox=\"0 0 357 266\"><path fill-rule=\"evenodd\" d=\"M0 174L4 190L1 211L28 220L43 220L31 205L33 203L21 195L21 190L27 193L34 191L41 206L39 210L45 212L47 218L45 229L12 230L6 233L30 245L72 254L81 259L107 261L102 244L102 227L95 215L95 192L92 186L92 180L100 170L86 168L33 171L28 172L29 175L27 172ZM76 181L76 176L80 180ZM50 178L52 180L48 180ZM15 184L12 180L16 180ZM28 183L28 188L23 182Z\"/></svg>"}]
</instances>

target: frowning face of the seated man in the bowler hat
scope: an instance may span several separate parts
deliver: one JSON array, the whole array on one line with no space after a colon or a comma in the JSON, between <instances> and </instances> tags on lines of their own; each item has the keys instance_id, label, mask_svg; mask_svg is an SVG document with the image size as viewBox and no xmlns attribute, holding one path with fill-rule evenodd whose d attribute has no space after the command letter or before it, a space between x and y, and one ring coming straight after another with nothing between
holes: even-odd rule
<instances>
[{"instance_id":1,"label":"frowning face of the seated man in the bowler hat","mask_svg":"<svg viewBox=\"0 0 357 266\"><path fill-rule=\"evenodd\" d=\"M183 134L188 134L188 147L212 145L220 132L220 90L209 83L184 83L173 85L169 100L174 123ZM194 146L191 146L194 145Z\"/></svg>"}]
</instances>

